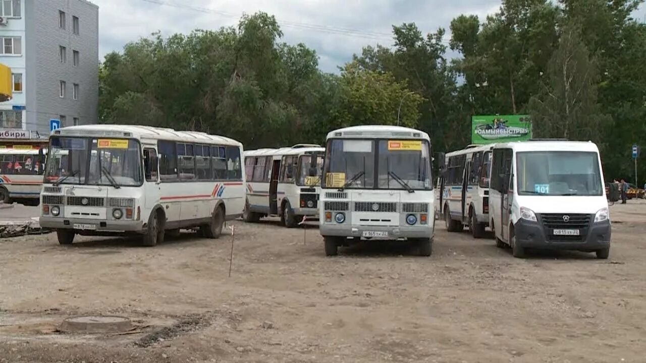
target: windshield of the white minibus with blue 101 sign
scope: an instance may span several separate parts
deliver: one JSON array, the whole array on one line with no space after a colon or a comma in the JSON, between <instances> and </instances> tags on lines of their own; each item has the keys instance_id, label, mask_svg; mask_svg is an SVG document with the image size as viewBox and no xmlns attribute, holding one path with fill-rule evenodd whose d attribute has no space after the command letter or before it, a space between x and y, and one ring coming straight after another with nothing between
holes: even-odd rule
<instances>
[{"instance_id":1,"label":"windshield of the white minibus with blue 101 sign","mask_svg":"<svg viewBox=\"0 0 646 363\"><path fill-rule=\"evenodd\" d=\"M603 195L596 152L517 152L516 169L519 195Z\"/></svg>"}]
</instances>

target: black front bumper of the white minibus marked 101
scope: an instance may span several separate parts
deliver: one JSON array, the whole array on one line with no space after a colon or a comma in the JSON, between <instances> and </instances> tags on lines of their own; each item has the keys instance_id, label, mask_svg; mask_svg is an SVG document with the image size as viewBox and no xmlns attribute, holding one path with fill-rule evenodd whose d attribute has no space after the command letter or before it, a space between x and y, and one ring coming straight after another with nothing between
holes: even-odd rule
<instances>
[{"instance_id":1,"label":"black front bumper of the white minibus marked 101","mask_svg":"<svg viewBox=\"0 0 646 363\"><path fill-rule=\"evenodd\" d=\"M590 223L581 231L580 240L559 240L550 235L547 228L537 222L518 220L514 225L516 243L525 248L565 249L572 251L593 252L610 247L610 221Z\"/></svg>"}]
</instances>

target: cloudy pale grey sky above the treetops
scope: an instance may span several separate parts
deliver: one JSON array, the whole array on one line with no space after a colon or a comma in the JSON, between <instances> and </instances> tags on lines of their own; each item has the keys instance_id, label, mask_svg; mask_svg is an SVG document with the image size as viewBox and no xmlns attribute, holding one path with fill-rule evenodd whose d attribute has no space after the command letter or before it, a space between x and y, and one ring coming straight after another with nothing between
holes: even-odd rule
<instances>
[{"instance_id":1,"label":"cloudy pale grey sky above the treetops","mask_svg":"<svg viewBox=\"0 0 646 363\"><path fill-rule=\"evenodd\" d=\"M243 13L278 19L287 43L317 50L319 67L336 72L365 45L390 45L391 25L414 22L422 32L448 30L451 19L483 19L500 0L91 0L99 6L99 57L160 30L163 35L238 23ZM642 6L636 17L643 19ZM447 34L446 39L449 35Z\"/></svg>"}]
</instances>

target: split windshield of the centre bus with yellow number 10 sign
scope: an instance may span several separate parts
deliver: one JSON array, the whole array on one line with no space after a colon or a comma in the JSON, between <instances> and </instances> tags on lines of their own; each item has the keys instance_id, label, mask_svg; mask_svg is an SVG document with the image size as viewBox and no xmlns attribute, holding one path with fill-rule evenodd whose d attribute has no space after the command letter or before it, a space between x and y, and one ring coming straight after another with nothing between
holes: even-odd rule
<instances>
[{"instance_id":1,"label":"split windshield of the centre bus with yellow number 10 sign","mask_svg":"<svg viewBox=\"0 0 646 363\"><path fill-rule=\"evenodd\" d=\"M431 190L426 140L329 140L324 187Z\"/></svg>"}]
</instances>

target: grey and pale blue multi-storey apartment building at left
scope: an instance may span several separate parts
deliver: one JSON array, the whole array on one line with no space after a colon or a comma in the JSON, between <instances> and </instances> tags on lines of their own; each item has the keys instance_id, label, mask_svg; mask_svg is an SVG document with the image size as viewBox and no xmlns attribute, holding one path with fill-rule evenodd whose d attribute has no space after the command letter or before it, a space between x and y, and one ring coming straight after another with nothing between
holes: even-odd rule
<instances>
[{"instance_id":1,"label":"grey and pale blue multi-storey apartment building at left","mask_svg":"<svg viewBox=\"0 0 646 363\"><path fill-rule=\"evenodd\" d=\"M0 129L47 136L96 123L99 8L86 0L0 0L0 63L12 70L13 99L0 103Z\"/></svg>"}]
</instances>

